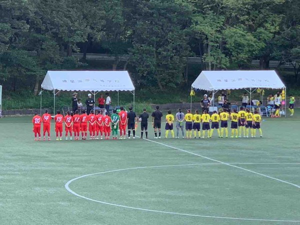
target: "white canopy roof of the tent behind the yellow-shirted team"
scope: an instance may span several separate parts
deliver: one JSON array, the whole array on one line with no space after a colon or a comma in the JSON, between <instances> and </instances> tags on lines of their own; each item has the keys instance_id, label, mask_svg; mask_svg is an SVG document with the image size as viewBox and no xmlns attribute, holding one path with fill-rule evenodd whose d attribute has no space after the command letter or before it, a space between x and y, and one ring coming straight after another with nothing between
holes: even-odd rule
<instances>
[{"instance_id":1,"label":"white canopy roof of the tent behind the yellow-shirted team","mask_svg":"<svg viewBox=\"0 0 300 225\"><path fill-rule=\"evenodd\" d=\"M274 70L202 71L191 86L202 90L285 87Z\"/></svg>"}]
</instances>

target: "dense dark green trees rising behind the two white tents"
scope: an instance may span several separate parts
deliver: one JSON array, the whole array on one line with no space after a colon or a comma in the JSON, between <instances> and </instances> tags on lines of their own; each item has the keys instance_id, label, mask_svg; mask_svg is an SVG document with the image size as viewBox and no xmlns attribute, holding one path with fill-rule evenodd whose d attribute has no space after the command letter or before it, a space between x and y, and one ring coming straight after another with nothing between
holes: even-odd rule
<instances>
[{"instance_id":1,"label":"dense dark green trees rising behind the two white tents","mask_svg":"<svg viewBox=\"0 0 300 225\"><path fill-rule=\"evenodd\" d=\"M208 70L298 62L299 9L299 0L1 0L0 82L36 94L46 70L87 66L89 52L115 56L112 69L129 54L121 68L135 85L160 90L189 82L187 56Z\"/></svg>"}]
</instances>

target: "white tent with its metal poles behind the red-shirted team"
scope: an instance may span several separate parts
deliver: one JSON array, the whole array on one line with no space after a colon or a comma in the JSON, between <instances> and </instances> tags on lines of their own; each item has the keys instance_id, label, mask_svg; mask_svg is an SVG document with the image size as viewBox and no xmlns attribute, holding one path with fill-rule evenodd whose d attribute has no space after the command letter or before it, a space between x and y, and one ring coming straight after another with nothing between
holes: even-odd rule
<instances>
[{"instance_id":1,"label":"white tent with its metal poles behind the red-shirted team","mask_svg":"<svg viewBox=\"0 0 300 225\"><path fill-rule=\"evenodd\" d=\"M53 91L55 111L55 95L61 90L90 91L94 95L99 91L130 91L133 94L134 86L127 71L47 71L41 83L41 88ZM56 92L57 90L57 92ZM40 94L41 109L41 94Z\"/></svg>"}]
</instances>

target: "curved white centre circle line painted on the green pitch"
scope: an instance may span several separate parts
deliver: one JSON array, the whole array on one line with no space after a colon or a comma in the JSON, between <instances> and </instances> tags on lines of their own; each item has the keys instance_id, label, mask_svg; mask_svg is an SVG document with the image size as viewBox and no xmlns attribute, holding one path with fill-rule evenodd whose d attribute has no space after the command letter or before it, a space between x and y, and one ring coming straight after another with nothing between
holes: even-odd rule
<instances>
[{"instance_id":1,"label":"curved white centre circle line painted on the green pitch","mask_svg":"<svg viewBox=\"0 0 300 225\"><path fill-rule=\"evenodd\" d=\"M243 164L234 162L235 164ZM246 162L247 164L256 164L256 163L251 163L251 162ZM262 163L262 162L261 162ZM260 164L261 164L260 163ZM137 210L142 210L142 211L150 211L150 212L159 212L159 213L165 213L165 214L175 214L175 215L187 215L187 216L197 216L197 217L206 217L206 218L221 218L221 219L235 219L235 220L254 220L254 221L273 221L273 222L300 222L300 220L282 220L282 219L259 219L259 218L238 218L238 217L225 217L225 216L213 216L213 215L197 215L197 214L189 214L189 213L179 213L179 212L170 212L170 211L160 211L160 210L153 210L153 209L146 209L146 208L138 208L138 207L131 207L131 206L126 206L126 205L121 205L121 204L114 204L114 203L109 203L105 201L100 201L100 200L95 200L92 198L85 197L83 195L77 194L73 190L69 188L69 184L77 179L86 177L86 176L91 176L91 175L97 175L97 174L103 174L103 173L108 173L108 172L115 172L115 171L123 171L123 170L130 170L130 169L141 169L141 168L153 168L153 167L171 167L171 166L189 166L189 165L221 165L223 163L194 163L194 164L178 164L178 165L154 165L154 166L141 166L141 167L133 167L133 168L123 168L123 169L114 169L114 170L109 170L109 171L103 171L103 172L96 172L96 173L90 173L82 176L75 177L69 181L67 181L64 184L65 189L70 192L71 194L76 195L77 197L84 198L86 200L98 202L98 203L103 203L107 205L113 205L113 206L118 206L118 207L123 207L123 208L130 208L130 209L137 209ZM233 164L233 163L232 163ZM268 164L267 162L264 164ZM273 163L271 163L273 164ZM281 164L277 162L277 164ZM286 164L286 163L282 163ZM300 163L290 163L290 164L300 164Z\"/></svg>"}]
</instances>

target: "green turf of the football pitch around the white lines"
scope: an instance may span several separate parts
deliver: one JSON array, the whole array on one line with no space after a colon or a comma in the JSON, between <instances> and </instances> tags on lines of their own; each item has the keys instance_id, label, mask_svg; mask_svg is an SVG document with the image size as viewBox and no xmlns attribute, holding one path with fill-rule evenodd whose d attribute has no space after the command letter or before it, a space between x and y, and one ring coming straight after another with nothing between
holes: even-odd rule
<instances>
[{"instance_id":1,"label":"green turf of the football pitch around the white lines","mask_svg":"<svg viewBox=\"0 0 300 225\"><path fill-rule=\"evenodd\" d=\"M158 139L228 163L300 163L300 116L265 118L263 138ZM69 193L77 176L139 166L216 163L155 142L34 141L31 117L0 119L0 224L299 224L141 211ZM53 124L52 139L54 138ZM137 135L140 129L138 128ZM164 131L162 132L164 134ZM153 130L149 130L150 140ZM234 164L300 184L300 164ZM239 218L300 220L299 188L224 164L151 167L77 179L88 198L132 207Z\"/></svg>"}]
</instances>

